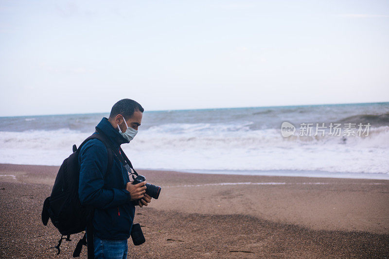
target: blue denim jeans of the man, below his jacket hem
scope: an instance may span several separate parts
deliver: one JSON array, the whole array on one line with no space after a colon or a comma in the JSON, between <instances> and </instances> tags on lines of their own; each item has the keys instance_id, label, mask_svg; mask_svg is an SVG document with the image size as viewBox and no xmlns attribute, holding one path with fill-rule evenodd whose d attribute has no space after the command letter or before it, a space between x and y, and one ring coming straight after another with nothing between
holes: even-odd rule
<instances>
[{"instance_id":1,"label":"blue denim jeans of the man, below his jacket hem","mask_svg":"<svg viewBox=\"0 0 389 259\"><path fill-rule=\"evenodd\" d=\"M108 240L93 236L95 259L126 259L127 240Z\"/></svg>"}]
</instances>

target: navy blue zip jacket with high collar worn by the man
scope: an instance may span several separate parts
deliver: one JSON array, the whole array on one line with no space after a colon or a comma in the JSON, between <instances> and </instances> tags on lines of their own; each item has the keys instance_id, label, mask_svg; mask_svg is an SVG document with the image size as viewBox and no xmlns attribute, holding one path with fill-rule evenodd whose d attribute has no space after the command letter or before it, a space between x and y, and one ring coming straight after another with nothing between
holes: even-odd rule
<instances>
[{"instance_id":1,"label":"navy blue zip jacket with high collar worn by the man","mask_svg":"<svg viewBox=\"0 0 389 259\"><path fill-rule=\"evenodd\" d=\"M106 118L103 118L97 127L111 139L117 149L121 144L129 143ZM125 185L130 180L120 160L113 155L112 168L107 173L106 146L94 138L81 147L78 162L78 195L82 205L95 208L95 235L100 239L128 239L135 215L135 203L131 201L130 193L125 190Z\"/></svg>"}]
</instances>

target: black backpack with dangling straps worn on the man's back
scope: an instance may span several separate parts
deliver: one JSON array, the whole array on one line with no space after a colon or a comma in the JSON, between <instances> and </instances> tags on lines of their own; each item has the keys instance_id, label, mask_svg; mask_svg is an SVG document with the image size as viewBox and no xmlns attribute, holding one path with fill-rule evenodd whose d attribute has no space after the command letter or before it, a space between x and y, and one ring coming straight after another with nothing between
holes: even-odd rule
<instances>
[{"instance_id":1,"label":"black backpack with dangling straps worn on the man's back","mask_svg":"<svg viewBox=\"0 0 389 259\"><path fill-rule=\"evenodd\" d=\"M78 197L78 185L79 185L79 164L78 155L81 147L89 140L97 138L101 140L105 145L108 153L108 166L107 173L110 172L113 163L113 152L110 148L110 140L99 131L99 134L93 134L85 139L81 145L76 147L73 145L73 154L66 158L55 178L54 186L50 197L47 197L43 203L42 209L42 223L47 225L49 218L53 225L61 233L61 238L58 241L57 246L53 247L58 249L57 255L61 252L60 245L64 238L66 241L71 241L70 235L80 233L88 229L88 242L87 237L84 237L77 243L73 253L73 257L79 257L83 245L88 245L88 258L93 258L93 209L91 207L81 206L80 199Z\"/></svg>"}]
</instances>

